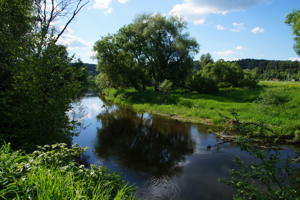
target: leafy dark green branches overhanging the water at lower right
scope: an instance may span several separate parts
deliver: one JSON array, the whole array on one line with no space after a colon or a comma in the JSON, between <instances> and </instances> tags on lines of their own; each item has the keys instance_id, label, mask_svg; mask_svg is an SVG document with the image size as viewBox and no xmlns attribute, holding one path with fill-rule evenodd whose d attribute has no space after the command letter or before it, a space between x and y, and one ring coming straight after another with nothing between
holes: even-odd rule
<instances>
[{"instance_id":1,"label":"leafy dark green branches overhanging the water at lower right","mask_svg":"<svg viewBox=\"0 0 300 200\"><path fill-rule=\"evenodd\" d=\"M261 123L259 125L240 124L235 111L232 111L237 122L238 131L241 136L235 141L235 144L241 151L248 152L254 156L257 162L253 162L251 167L244 164L238 156L234 161L237 162L240 171L229 170L229 174L240 178L232 177L231 180L225 181L220 177L219 181L228 186L237 188L237 195L233 199L293 199L298 200L300 194L300 179L294 177L292 161L289 155L285 159L281 159L281 151L276 148L274 138L267 137L268 143L264 146L266 150L257 148L255 144L250 142L251 136L258 136L261 141L266 135L266 126ZM259 146L261 146L260 144Z\"/></svg>"}]
</instances>

